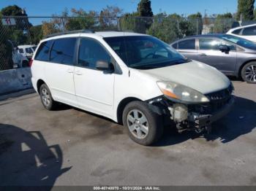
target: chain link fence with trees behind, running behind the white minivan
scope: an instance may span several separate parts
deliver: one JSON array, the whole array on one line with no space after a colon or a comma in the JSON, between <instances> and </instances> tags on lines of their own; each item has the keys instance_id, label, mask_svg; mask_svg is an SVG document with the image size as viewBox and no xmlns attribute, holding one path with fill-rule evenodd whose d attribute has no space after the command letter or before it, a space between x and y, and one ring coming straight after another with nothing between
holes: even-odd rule
<instances>
[{"instance_id":1,"label":"chain link fence with trees behind, running behind the white minivan","mask_svg":"<svg viewBox=\"0 0 256 191\"><path fill-rule=\"evenodd\" d=\"M29 66L34 49L49 34L91 29L151 34L170 43L184 36L225 33L238 22L230 18L186 17L0 17L0 71ZM24 45L24 46L22 46Z\"/></svg>"}]
</instances>

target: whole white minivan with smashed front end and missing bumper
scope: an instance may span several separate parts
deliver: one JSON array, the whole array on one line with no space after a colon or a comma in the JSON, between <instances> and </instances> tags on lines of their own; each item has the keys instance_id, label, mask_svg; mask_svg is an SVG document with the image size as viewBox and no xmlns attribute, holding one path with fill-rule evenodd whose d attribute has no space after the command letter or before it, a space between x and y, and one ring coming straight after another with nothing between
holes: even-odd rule
<instances>
[{"instance_id":1,"label":"whole white minivan with smashed front end and missing bumper","mask_svg":"<svg viewBox=\"0 0 256 191\"><path fill-rule=\"evenodd\" d=\"M43 106L58 102L123 124L150 145L165 125L205 132L233 105L233 85L146 34L70 31L43 39L31 62Z\"/></svg>"}]
</instances>

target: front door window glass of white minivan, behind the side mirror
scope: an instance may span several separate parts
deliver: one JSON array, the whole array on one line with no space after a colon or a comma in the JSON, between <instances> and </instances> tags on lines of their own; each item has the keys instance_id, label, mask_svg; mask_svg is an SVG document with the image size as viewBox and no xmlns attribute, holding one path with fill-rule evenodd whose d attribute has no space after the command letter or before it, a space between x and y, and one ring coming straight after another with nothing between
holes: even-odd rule
<instances>
[{"instance_id":1,"label":"front door window glass of white minivan, behind the side mirror","mask_svg":"<svg viewBox=\"0 0 256 191\"><path fill-rule=\"evenodd\" d=\"M94 39L82 38L78 53L78 66L96 69L97 61L110 63L111 57L105 48Z\"/></svg>"}]
</instances>

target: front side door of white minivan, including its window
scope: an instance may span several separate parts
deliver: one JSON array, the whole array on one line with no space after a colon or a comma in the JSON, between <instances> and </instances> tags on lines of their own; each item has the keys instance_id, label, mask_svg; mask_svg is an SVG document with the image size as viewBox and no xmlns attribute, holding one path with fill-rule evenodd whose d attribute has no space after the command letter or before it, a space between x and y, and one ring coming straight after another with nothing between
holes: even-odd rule
<instances>
[{"instance_id":1,"label":"front side door of white minivan, including its window","mask_svg":"<svg viewBox=\"0 0 256 191\"><path fill-rule=\"evenodd\" d=\"M78 50L78 63L74 71L78 104L90 112L113 117L115 74L97 70L97 61L110 63L110 54L97 40L82 37Z\"/></svg>"}]
</instances>

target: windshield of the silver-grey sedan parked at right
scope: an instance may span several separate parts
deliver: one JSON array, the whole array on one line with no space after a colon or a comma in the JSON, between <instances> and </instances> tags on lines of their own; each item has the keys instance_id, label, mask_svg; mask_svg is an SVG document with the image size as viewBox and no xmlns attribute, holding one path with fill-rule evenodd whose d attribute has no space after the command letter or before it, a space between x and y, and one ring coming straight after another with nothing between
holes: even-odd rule
<instances>
[{"instance_id":1,"label":"windshield of the silver-grey sedan parked at right","mask_svg":"<svg viewBox=\"0 0 256 191\"><path fill-rule=\"evenodd\" d=\"M225 40L227 40L229 42L233 42L235 44L238 44L241 47L245 47L245 48L256 50L255 42L249 41L247 39L240 38L238 36L233 36L233 35L226 34L226 35L222 36L222 39L225 39Z\"/></svg>"}]
</instances>

